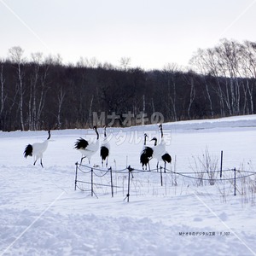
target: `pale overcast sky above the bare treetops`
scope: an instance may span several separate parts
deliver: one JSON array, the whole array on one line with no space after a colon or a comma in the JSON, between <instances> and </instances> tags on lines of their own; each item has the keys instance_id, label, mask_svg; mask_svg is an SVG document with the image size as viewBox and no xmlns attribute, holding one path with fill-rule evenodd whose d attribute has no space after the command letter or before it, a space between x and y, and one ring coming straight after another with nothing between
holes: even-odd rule
<instances>
[{"instance_id":1,"label":"pale overcast sky above the bare treetops","mask_svg":"<svg viewBox=\"0 0 256 256\"><path fill-rule=\"evenodd\" d=\"M119 66L186 67L198 48L219 39L256 42L256 0L0 0L0 58L20 46Z\"/></svg>"}]
</instances>

